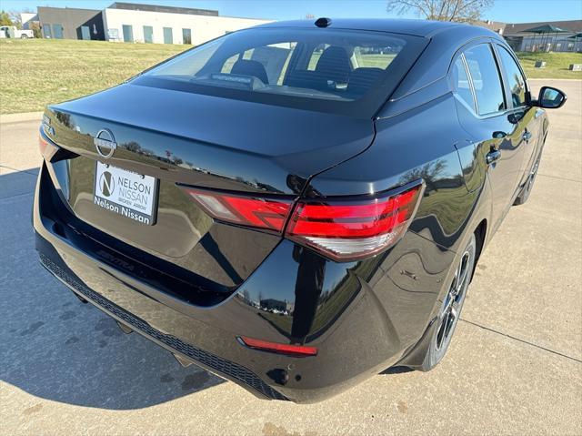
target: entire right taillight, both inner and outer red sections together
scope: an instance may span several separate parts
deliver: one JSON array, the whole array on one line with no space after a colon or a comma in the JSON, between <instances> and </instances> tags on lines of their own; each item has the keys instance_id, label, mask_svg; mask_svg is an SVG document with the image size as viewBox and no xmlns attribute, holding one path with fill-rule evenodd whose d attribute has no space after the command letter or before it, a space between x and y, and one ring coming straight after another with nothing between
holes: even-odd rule
<instances>
[{"instance_id":1,"label":"entire right taillight, both inner and outer red sections together","mask_svg":"<svg viewBox=\"0 0 582 436\"><path fill-rule=\"evenodd\" d=\"M213 218L279 234L285 229L285 238L328 258L348 261L372 256L402 238L424 184L417 182L376 197L299 200L295 208L290 199L185 189Z\"/></svg>"}]
</instances>

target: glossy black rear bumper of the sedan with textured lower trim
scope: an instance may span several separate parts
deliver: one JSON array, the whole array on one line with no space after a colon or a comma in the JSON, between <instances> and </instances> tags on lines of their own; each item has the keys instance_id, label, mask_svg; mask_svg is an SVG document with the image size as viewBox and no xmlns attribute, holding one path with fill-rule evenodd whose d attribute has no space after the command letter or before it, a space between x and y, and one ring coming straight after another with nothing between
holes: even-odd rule
<instances>
[{"instance_id":1,"label":"glossy black rear bumper of the sedan with textured lower trim","mask_svg":"<svg viewBox=\"0 0 582 436\"><path fill-rule=\"evenodd\" d=\"M44 166L33 221L46 269L158 345L266 399L320 401L402 360L434 316L454 258L413 232L386 253L354 263L282 240L231 297L200 307L141 279L149 267L134 265L121 245L102 245L71 226L58 208L64 207ZM318 353L250 350L238 336L305 343Z\"/></svg>"}]
</instances>

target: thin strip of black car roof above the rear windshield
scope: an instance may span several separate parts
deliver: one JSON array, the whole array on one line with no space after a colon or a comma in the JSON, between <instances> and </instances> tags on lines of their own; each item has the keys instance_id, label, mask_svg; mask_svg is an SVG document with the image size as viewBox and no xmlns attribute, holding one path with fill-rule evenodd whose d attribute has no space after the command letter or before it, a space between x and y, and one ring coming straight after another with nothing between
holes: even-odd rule
<instances>
[{"instance_id":1,"label":"thin strip of black car roof above the rear windshield","mask_svg":"<svg viewBox=\"0 0 582 436\"><path fill-rule=\"evenodd\" d=\"M460 23L451 23L448 21L429 21L421 19L394 19L394 18L331 18L331 24L328 28L350 29L350 30L372 30L376 32L390 32L394 34L414 35L432 37L448 29L466 27L474 30L472 32L481 33L482 35L496 35L485 27L477 25L465 25ZM301 27L315 28L316 19L313 20L294 20L294 21L276 21L257 25L256 27ZM478 32L477 29L482 30ZM475 32L477 30L477 32Z\"/></svg>"}]
</instances>

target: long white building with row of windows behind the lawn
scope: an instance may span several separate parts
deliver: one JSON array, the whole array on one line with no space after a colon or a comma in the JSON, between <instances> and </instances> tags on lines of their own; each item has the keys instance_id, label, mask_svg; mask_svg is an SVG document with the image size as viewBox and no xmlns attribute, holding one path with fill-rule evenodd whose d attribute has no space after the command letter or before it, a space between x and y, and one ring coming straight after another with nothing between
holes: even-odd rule
<instances>
[{"instance_id":1,"label":"long white building with row of windows behind the lawn","mask_svg":"<svg viewBox=\"0 0 582 436\"><path fill-rule=\"evenodd\" d=\"M114 3L102 12L105 40L199 45L268 20L219 16L218 11L186 7Z\"/></svg>"}]
</instances>

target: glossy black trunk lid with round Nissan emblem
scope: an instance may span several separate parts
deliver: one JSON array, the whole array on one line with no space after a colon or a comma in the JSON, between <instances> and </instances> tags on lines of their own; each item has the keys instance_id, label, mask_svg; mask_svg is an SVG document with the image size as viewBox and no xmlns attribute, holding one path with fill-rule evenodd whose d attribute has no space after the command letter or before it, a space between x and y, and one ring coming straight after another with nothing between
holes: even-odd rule
<instances>
[{"instance_id":1,"label":"glossy black trunk lid with round Nissan emblem","mask_svg":"<svg viewBox=\"0 0 582 436\"><path fill-rule=\"evenodd\" d=\"M292 201L309 177L374 137L371 119L130 84L50 106L45 124L55 144L77 155L52 172L68 187L64 201L76 218L119 240L125 255L137 248L224 290L236 289L281 237L216 222L181 187ZM95 137L115 142L110 157ZM107 168L149 180L152 222L99 204L97 178Z\"/></svg>"}]
</instances>

